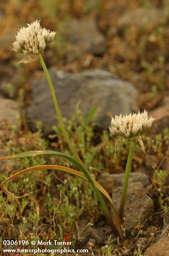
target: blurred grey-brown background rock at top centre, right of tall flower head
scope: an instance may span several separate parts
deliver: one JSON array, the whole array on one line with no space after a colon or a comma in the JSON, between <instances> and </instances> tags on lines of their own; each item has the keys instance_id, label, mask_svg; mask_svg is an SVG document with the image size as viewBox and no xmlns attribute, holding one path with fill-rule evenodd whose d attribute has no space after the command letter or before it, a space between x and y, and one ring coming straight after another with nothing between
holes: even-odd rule
<instances>
[{"instance_id":1,"label":"blurred grey-brown background rock at top centre, right of tall flower head","mask_svg":"<svg viewBox=\"0 0 169 256\"><path fill-rule=\"evenodd\" d=\"M69 61L73 61L72 49L76 58L83 52L97 56L106 52L106 39L98 30L95 20L69 20L69 27L71 29L67 30L67 38L72 45L67 55Z\"/></svg>"}]
</instances>

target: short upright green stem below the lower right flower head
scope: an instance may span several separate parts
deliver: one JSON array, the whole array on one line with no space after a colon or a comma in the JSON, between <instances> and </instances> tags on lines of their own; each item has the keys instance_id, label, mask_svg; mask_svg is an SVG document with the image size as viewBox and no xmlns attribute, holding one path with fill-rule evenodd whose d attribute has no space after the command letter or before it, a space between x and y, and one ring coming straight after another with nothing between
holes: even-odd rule
<instances>
[{"instance_id":1,"label":"short upright green stem below the lower right flower head","mask_svg":"<svg viewBox=\"0 0 169 256\"><path fill-rule=\"evenodd\" d=\"M125 199L126 199L126 194L127 194L129 175L130 175L130 171L131 171L131 162L132 162L133 151L134 151L134 141L130 140L130 151L129 151L127 164L126 164L126 168L125 168L123 191L122 191L121 202L120 202L120 207L119 207L119 217L121 220L123 219Z\"/></svg>"}]
</instances>

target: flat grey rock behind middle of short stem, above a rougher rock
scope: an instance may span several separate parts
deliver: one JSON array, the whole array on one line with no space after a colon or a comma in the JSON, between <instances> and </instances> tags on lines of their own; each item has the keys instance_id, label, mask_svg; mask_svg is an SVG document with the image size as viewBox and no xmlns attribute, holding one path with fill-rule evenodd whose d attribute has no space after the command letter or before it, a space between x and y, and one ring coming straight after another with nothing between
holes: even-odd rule
<instances>
[{"instance_id":1,"label":"flat grey rock behind middle of short stem, above a rougher rock","mask_svg":"<svg viewBox=\"0 0 169 256\"><path fill-rule=\"evenodd\" d=\"M102 173L100 175L100 184L111 194L113 189L123 186L124 173L121 174L109 174ZM144 187L149 184L149 177L142 172L131 172L129 176L129 183L141 182Z\"/></svg>"}]
</instances>

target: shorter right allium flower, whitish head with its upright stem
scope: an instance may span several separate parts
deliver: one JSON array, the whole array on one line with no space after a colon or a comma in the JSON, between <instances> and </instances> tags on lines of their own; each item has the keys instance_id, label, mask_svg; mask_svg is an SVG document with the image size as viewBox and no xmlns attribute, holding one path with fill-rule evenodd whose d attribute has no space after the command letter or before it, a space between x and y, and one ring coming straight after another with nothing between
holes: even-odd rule
<instances>
[{"instance_id":1,"label":"shorter right allium flower, whitish head with its upright stem","mask_svg":"<svg viewBox=\"0 0 169 256\"><path fill-rule=\"evenodd\" d=\"M128 188L128 180L131 171L131 162L132 155L134 151L134 140L137 140L141 146L141 149L144 151L144 144L141 138L141 135L145 134L152 126L154 118L152 116L148 119L147 111L138 114L129 114L129 115L120 115L112 117L110 132L113 135L119 135L119 139L115 142L115 148L118 145L119 141L122 141L123 138L130 141L130 151L127 159L127 164L125 168L124 184L121 195L121 202L119 207L119 217L123 219L125 199Z\"/></svg>"}]
</instances>

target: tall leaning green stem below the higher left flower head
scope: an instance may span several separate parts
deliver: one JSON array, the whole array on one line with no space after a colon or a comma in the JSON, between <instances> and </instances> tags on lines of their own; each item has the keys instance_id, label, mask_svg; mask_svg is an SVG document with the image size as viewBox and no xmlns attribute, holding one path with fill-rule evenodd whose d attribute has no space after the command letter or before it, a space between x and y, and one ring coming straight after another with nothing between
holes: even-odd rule
<instances>
[{"instance_id":1,"label":"tall leaning green stem below the higher left flower head","mask_svg":"<svg viewBox=\"0 0 169 256\"><path fill-rule=\"evenodd\" d=\"M44 63L44 60L43 60L41 54L39 54L39 61L40 61L41 66L43 67L44 74L46 75L46 79L47 79L47 81L48 81L49 88L50 88L50 92L51 92L51 95L52 95L52 98L53 98L53 102L54 102L54 105L55 105L57 118L58 118L60 127L61 127L61 129L62 129L63 135L64 135L64 137L65 137L65 139L66 139L66 141L67 141L67 143L68 143L68 145L69 145L69 148L70 148L71 152L73 153L73 155L75 156L76 161L79 162L79 163L83 166L83 168L86 170L86 172L87 172L87 175L86 175L86 176L88 177L88 180L89 180L89 182L91 183L91 185L92 185L94 191L95 191L96 194L98 195L99 201L100 201L101 206L102 206L102 208L103 208L103 211L104 211L104 213L105 213L105 215L106 215L106 218L107 218L107 220L108 220L109 223L110 223L110 226L111 226L111 228L112 228L112 230L113 230L113 233L115 234L115 236L118 236L118 234L119 234L120 238L123 238L123 233L122 233L122 230L121 230L121 221L120 221L120 218L119 218L118 213L116 212L115 209L113 209L113 213L114 213L114 216L115 216L115 220L116 220L116 224L117 224L117 229L118 229L118 230L117 230L116 227L115 227L115 225L114 225L113 218L112 218L112 216L111 216L111 214L110 214L110 211L109 211L109 209L108 209L107 206L106 206L106 202L105 202L104 197L100 194L100 192L98 191L98 189L97 189L97 188L95 187L95 185L93 184L93 182L92 182L92 180L91 180L92 177L91 177L90 172L88 171L88 169L87 169L87 167L85 166L85 164L81 161L80 157L77 155L77 152L76 152L75 148L73 147L71 141L69 140L69 137L68 137L68 135L67 135L67 132L66 132L66 130L65 130L65 128L64 128L64 124L63 124L63 121L62 121L62 115L61 115L61 113L60 113L59 106L58 106L58 103L57 103L55 90L54 90L54 88L53 88L52 81L51 81L51 79L50 79L50 75L49 75L48 69L47 69L47 67L46 67L46 65L45 65L45 63Z\"/></svg>"}]
</instances>

